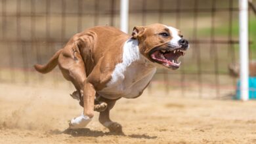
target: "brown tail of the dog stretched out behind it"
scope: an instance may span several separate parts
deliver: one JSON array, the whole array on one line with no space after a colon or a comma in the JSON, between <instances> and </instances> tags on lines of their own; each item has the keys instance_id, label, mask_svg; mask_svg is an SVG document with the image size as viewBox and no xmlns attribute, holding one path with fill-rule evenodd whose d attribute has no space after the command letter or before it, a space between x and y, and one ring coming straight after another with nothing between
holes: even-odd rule
<instances>
[{"instance_id":1,"label":"brown tail of the dog stretched out behind it","mask_svg":"<svg viewBox=\"0 0 256 144\"><path fill-rule=\"evenodd\" d=\"M39 73L49 73L58 64L58 56L60 56L61 52L62 52L62 49L58 50L47 64L45 65L35 64L33 65L33 67L35 67L35 70L37 70Z\"/></svg>"}]
</instances>

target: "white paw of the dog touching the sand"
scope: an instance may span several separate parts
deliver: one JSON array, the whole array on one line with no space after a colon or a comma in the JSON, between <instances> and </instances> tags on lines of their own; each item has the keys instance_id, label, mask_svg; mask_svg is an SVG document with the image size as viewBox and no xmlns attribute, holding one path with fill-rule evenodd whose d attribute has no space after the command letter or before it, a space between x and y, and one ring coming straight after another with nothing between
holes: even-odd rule
<instances>
[{"instance_id":1,"label":"white paw of the dog touching the sand","mask_svg":"<svg viewBox=\"0 0 256 144\"><path fill-rule=\"evenodd\" d=\"M86 115L82 115L76 118L73 118L72 120L70 120L70 128L75 129L75 128L84 128L85 126L87 126L87 124L89 124L89 122L91 122L92 118L89 118Z\"/></svg>"}]
</instances>

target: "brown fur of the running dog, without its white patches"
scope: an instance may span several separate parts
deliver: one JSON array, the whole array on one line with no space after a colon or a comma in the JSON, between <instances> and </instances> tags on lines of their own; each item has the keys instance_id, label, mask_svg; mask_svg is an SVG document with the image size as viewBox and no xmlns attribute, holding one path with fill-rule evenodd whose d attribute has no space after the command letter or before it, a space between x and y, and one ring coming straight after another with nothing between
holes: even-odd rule
<instances>
[{"instance_id":1,"label":"brown fur of the running dog, without its white patches","mask_svg":"<svg viewBox=\"0 0 256 144\"><path fill-rule=\"evenodd\" d=\"M144 27L135 27L133 29L133 39L139 41L140 53L148 58L148 52L152 48L165 45L172 37L159 37L156 33L162 31L171 33L161 24L153 24ZM93 117L95 96L98 90L102 90L106 83L110 81L112 71L117 63L122 60L122 47L129 35L119 31L114 27L100 26L87 29L77 33L68 41L68 43L54 54L53 58L46 65L35 65L35 69L40 73L48 73L58 63L63 76L71 81L80 96L83 96L84 115ZM150 58L148 58L150 60ZM99 120L112 122L109 118L109 112L116 99L105 99L98 96L108 104L106 111L100 112ZM121 125L117 123L106 126L110 130L112 127L119 130Z\"/></svg>"}]
</instances>

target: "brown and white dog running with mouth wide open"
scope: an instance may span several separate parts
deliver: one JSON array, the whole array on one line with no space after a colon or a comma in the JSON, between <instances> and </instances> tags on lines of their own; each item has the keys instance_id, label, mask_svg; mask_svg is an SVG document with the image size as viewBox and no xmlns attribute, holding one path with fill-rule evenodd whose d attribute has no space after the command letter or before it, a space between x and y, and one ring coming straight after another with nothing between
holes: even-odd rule
<instances>
[{"instance_id":1,"label":"brown and white dog running with mouth wide open","mask_svg":"<svg viewBox=\"0 0 256 144\"><path fill-rule=\"evenodd\" d=\"M137 98L148 86L156 67L179 68L188 41L179 29L163 24L136 26L131 36L114 27L98 26L77 33L46 65L35 65L48 73L56 65L76 90L71 96L84 107L70 128L83 128L100 111L99 121L110 132L121 125L110 120L110 109L119 98ZM95 105L97 106L95 108Z\"/></svg>"}]
</instances>

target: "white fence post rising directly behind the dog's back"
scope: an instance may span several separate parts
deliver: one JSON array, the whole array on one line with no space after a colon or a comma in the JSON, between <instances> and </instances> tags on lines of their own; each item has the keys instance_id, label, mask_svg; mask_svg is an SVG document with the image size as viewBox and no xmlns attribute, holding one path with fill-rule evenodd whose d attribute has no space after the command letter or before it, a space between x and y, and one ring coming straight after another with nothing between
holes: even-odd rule
<instances>
[{"instance_id":1,"label":"white fence post rising directly behind the dog's back","mask_svg":"<svg viewBox=\"0 0 256 144\"><path fill-rule=\"evenodd\" d=\"M129 0L121 0L120 3L120 29L128 33Z\"/></svg>"}]
</instances>

